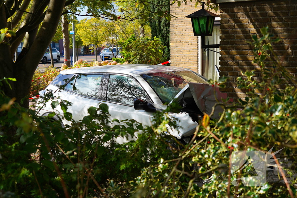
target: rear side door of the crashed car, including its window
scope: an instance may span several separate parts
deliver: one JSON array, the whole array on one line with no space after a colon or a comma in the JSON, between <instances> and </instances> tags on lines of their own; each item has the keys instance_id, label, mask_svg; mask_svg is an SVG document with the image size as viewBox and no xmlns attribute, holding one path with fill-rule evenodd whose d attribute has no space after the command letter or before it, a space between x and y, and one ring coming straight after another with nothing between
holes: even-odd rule
<instances>
[{"instance_id":1,"label":"rear side door of the crashed car, including its window","mask_svg":"<svg viewBox=\"0 0 297 198\"><path fill-rule=\"evenodd\" d=\"M105 74L78 74L65 86L63 99L72 103L68 112L76 121L88 115L89 107L98 107L101 102L102 79ZM67 121L65 121L67 122Z\"/></svg>"}]
</instances>

